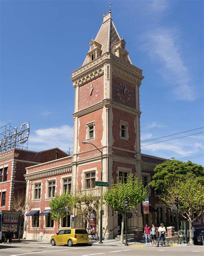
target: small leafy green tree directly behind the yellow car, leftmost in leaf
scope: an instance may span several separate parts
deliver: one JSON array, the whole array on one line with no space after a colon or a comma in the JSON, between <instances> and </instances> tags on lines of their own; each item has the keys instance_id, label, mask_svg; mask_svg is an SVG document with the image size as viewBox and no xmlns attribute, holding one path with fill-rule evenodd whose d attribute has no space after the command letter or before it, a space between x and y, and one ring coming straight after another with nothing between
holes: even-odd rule
<instances>
[{"instance_id":1,"label":"small leafy green tree directly behind the yellow car, leftmost in leaf","mask_svg":"<svg viewBox=\"0 0 204 256\"><path fill-rule=\"evenodd\" d=\"M49 202L50 215L54 221L58 222L58 231L60 219L65 218L67 214L65 208L67 210L72 210L75 200L75 197L71 193L63 193L62 195L56 194Z\"/></svg>"}]
</instances>

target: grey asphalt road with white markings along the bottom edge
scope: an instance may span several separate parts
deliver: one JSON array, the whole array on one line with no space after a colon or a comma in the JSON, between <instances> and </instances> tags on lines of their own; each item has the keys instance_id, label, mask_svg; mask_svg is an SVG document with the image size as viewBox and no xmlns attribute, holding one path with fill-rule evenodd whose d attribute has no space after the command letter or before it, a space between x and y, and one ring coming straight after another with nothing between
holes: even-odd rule
<instances>
[{"instance_id":1,"label":"grey asphalt road with white markings along the bottom edge","mask_svg":"<svg viewBox=\"0 0 204 256\"><path fill-rule=\"evenodd\" d=\"M203 256L204 246L51 246L0 244L0 256Z\"/></svg>"}]
</instances>

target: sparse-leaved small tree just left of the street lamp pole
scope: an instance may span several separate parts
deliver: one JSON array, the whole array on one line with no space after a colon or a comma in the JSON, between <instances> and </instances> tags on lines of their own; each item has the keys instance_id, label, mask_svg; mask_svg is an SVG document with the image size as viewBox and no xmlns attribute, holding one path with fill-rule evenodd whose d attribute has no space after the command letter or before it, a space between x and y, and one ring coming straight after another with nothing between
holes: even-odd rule
<instances>
[{"instance_id":1,"label":"sparse-leaved small tree just left of the street lamp pole","mask_svg":"<svg viewBox=\"0 0 204 256\"><path fill-rule=\"evenodd\" d=\"M99 190L79 191L75 196L75 205L77 212L87 220L87 232L89 232L90 216L96 214L99 216Z\"/></svg>"}]
</instances>

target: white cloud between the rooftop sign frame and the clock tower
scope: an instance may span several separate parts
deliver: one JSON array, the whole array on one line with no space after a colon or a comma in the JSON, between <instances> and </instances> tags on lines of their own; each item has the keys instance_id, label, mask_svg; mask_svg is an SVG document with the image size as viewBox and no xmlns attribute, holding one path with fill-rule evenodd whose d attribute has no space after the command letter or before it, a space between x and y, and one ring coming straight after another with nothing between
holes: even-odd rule
<instances>
[{"instance_id":1,"label":"white cloud between the rooftop sign frame and the clock tower","mask_svg":"<svg viewBox=\"0 0 204 256\"><path fill-rule=\"evenodd\" d=\"M28 150L47 150L59 147L65 152L73 146L73 127L62 125L56 128L38 129L28 138Z\"/></svg>"}]
</instances>

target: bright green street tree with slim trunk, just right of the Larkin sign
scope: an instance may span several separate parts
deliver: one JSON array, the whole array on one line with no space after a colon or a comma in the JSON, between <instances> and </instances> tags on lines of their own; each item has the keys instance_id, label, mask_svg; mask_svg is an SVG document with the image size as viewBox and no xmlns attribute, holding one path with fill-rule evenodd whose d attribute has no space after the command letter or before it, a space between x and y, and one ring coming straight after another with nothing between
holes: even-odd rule
<instances>
[{"instance_id":1,"label":"bright green street tree with slim trunk, just right of the Larkin sign","mask_svg":"<svg viewBox=\"0 0 204 256\"><path fill-rule=\"evenodd\" d=\"M122 226L121 226L121 243L123 243L124 237L124 201L125 198L129 201L127 211L131 211L139 203L145 201L148 196L147 188L143 186L142 181L139 181L137 177L130 174L127 177L127 182L116 181L113 182L110 189L108 189L103 198L105 202L111 206L114 211L122 214Z\"/></svg>"}]
</instances>

